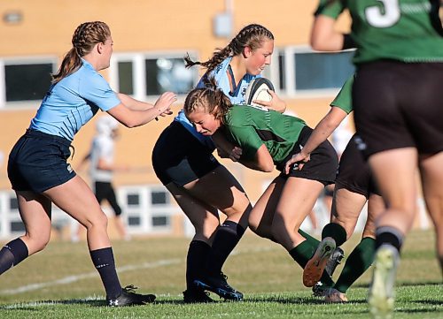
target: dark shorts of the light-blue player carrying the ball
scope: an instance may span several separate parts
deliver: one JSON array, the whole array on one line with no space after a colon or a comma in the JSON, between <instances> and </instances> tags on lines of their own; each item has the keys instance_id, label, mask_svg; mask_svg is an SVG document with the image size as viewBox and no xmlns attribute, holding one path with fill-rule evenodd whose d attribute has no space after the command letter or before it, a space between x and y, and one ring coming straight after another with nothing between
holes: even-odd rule
<instances>
[{"instance_id":1,"label":"dark shorts of the light-blue player carrying the ball","mask_svg":"<svg viewBox=\"0 0 443 319\"><path fill-rule=\"evenodd\" d=\"M174 121L160 134L152 150L152 165L163 185L183 186L221 165L183 125Z\"/></svg>"}]
</instances>

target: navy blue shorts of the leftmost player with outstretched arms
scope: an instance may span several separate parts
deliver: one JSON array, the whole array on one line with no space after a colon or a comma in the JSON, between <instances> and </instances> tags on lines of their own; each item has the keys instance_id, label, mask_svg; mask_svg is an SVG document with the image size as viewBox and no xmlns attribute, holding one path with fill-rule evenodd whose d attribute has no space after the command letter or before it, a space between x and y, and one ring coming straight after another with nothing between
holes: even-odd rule
<instances>
[{"instance_id":1,"label":"navy blue shorts of the leftmost player with outstretched arms","mask_svg":"<svg viewBox=\"0 0 443 319\"><path fill-rule=\"evenodd\" d=\"M12 189L41 194L74 178L75 172L66 162L71 155L70 146L71 141L65 138L27 130L9 155Z\"/></svg>"}]
</instances>

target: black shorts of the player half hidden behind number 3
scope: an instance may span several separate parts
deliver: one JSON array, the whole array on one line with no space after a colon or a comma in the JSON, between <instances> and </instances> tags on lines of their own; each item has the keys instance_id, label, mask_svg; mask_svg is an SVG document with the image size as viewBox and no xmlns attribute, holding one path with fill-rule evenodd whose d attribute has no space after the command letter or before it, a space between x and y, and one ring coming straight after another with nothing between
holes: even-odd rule
<instances>
[{"instance_id":1,"label":"black shorts of the player half hidden behind number 3","mask_svg":"<svg viewBox=\"0 0 443 319\"><path fill-rule=\"evenodd\" d=\"M340 157L336 188L345 188L350 192L361 194L367 199L369 194L380 193L369 169L369 163L365 161L363 154L358 149L358 137L356 134L347 143L345 151Z\"/></svg>"}]
</instances>

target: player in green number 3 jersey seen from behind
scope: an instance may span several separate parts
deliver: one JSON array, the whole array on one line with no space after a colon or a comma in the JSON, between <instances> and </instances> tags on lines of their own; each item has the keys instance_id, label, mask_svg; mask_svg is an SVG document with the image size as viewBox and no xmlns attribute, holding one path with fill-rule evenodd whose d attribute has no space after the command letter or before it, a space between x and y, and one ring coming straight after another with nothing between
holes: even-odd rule
<instances>
[{"instance_id":1,"label":"player in green number 3 jersey seen from behind","mask_svg":"<svg viewBox=\"0 0 443 319\"><path fill-rule=\"evenodd\" d=\"M357 48L354 120L387 209L377 219L370 312L391 317L400 248L416 215L416 170L443 269L443 29L439 0L322 0L314 49ZM351 34L334 29L349 11ZM354 42L354 43L353 43Z\"/></svg>"}]
</instances>

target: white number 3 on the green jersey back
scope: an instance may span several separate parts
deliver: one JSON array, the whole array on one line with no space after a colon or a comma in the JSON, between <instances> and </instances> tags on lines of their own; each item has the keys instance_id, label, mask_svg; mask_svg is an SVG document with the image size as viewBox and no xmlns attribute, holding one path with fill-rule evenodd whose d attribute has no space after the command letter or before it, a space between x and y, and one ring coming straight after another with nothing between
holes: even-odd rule
<instances>
[{"instance_id":1,"label":"white number 3 on the green jersey back","mask_svg":"<svg viewBox=\"0 0 443 319\"><path fill-rule=\"evenodd\" d=\"M399 0L377 0L382 6L374 5L366 8L365 15L372 27L392 27L400 19Z\"/></svg>"}]
</instances>

